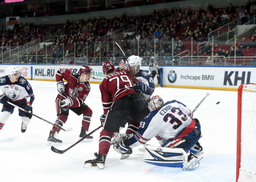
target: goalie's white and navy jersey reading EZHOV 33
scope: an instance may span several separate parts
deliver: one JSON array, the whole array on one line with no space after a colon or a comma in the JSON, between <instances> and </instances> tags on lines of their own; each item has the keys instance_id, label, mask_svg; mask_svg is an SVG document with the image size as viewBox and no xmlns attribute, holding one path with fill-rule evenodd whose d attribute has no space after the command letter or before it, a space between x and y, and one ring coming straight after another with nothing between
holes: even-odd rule
<instances>
[{"instance_id":1,"label":"goalie's white and navy jersey reading EZHOV 33","mask_svg":"<svg viewBox=\"0 0 256 182\"><path fill-rule=\"evenodd\" d=\"M127 141L131 148L144 145L158 135L163 141L182 138L195 129L195 120L190 109L172 100L152 111L140 122L140 128Z\"/></svg>"}]
</instances>

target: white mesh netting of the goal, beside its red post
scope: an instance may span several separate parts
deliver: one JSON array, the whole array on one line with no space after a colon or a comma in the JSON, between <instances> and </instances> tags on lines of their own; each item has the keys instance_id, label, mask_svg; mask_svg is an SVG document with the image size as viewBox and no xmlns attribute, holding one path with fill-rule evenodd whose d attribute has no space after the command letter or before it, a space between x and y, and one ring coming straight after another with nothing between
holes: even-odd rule
<instances>
[{"instance_id":1,"label":"white mesh netting of the goal, beside its red post","mask_svg":"<svg viewBox=\"0 0 256 182\"><path fill-rule=\"evenodd\" d=\"M256 173L256 85L244 85L241 113L240 169Z\"/></svg>"}]
</instances>

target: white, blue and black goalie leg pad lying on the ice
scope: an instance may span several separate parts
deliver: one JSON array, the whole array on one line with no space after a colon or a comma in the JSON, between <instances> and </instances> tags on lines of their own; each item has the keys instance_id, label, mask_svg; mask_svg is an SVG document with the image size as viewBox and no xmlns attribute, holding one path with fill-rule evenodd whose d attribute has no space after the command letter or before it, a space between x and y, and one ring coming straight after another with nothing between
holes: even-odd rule
<instances>
[{"instance_id":1,"label":"white, blue and black goalie leg pad lying on the ice","mask_svg":"<svg viewBox=\"0 0 256 182\"><path fill-rule=\"evenodd\" d=\"M144 145L144 161L164 167L179 167L190 170L199 167L201 157L195 156L189 150L182 148L165 148L160 146Z\"/></svg>"}]
</instances>

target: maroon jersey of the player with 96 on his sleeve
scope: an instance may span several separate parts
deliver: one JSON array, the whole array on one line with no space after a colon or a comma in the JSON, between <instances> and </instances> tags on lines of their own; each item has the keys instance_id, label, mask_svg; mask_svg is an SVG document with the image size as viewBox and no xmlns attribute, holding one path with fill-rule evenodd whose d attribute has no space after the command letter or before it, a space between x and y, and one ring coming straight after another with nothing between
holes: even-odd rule
<instances>
[{"instance_id":1,"label":"maroon jersey of the player with 96 on his sleeve","mask_svg":"<svg viewBox=\"0 0 256 182\"><path fill-rule=\"evenodd\" d=\"M85 102L85 99L91 90L89 82L78 83L80 75L64 68L59 69L55 77L57 82L62 81L63 79L67 81L65 84L65 92L62 93L62 100L69 97L74 103L71 107L80 107L83 102ZM60 96L61 95L58 94L57 97L60 98Z\"/></svg>"}]
</instances>

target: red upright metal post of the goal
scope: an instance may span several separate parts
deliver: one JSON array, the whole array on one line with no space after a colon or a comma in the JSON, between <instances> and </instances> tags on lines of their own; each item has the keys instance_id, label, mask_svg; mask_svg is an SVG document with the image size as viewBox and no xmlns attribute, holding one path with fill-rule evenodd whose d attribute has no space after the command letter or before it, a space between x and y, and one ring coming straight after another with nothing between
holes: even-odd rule
<instances>
[{"instance_id":1,"label":"red upright metal post of the goal","mask_svg":"<svg viewBox=\"0 0 256 182\"><path fill-rule=\"evenodd\" d=\"M241 119L242 119L242 90L244 85L240 85L237 90L237 162L236 162L236 182L239 178L241 167Z\"/></svg>"}]
</instances>

